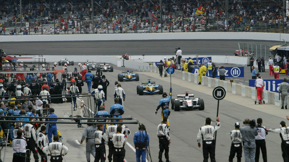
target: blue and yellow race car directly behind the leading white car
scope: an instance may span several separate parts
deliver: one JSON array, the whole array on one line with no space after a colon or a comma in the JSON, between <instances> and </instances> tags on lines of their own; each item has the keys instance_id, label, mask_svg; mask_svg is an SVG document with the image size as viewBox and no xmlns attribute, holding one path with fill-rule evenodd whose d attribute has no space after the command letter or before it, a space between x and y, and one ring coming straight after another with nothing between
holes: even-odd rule
<instances>
[{"instance_id":1,"label":"blue and yellow race car directly behind the leading white car","mask_svg":"<svg viewBox=\"0 0 289 162\"><path fill-rule=\"evenodd\" d=\"M142 85L137 86L137 94L162 94L164 91L161 85L156 85L148 79L147 82L142 82Z\"/></svg>"}]
</instances>

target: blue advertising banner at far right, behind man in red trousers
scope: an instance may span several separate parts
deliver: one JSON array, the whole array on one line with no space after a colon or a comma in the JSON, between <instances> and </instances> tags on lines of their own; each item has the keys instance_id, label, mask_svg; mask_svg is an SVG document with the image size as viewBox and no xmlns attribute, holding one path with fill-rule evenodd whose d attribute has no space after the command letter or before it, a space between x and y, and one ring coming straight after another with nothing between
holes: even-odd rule
<instances>
[{"instance_id":1,"label":"blue advertising banner at far right, behind man in red trousers","mask_svg":"<svg viewBox=\"0 0 289 162\"><path fill-rule=\"evenodd\" d=\"M283 79L263 79L265 82L264 90L271 92L279 92L279 86L283 82ZM249 86L255 87L255 80L249 79Z\"/></svg>"}]
</instances>

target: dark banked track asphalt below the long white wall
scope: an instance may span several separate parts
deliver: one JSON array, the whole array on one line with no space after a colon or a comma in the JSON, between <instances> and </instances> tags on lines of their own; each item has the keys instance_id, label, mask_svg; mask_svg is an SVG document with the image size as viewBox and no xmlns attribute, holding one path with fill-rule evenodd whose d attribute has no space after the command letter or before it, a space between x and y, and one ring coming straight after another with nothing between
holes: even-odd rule
<instances>
[{"instance_id":1,"label":"dark banked track asphalt below the long white wall","mask_svg":"<svg viewBox=\"0 0 289 162\"><path fill-rule=\"evenodd\" d=\"M1 42L7 54L43 55L168 55L180 47L183 55L233 55L240 43L279 45L279 41L255 40L134 40L134 41L47 41Z\"/></svg>"}]
</instances>

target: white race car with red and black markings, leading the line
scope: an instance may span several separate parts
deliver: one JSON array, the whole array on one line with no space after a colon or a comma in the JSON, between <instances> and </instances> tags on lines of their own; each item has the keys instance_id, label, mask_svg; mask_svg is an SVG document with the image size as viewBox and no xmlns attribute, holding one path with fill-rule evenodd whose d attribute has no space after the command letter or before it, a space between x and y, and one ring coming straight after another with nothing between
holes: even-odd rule
<instances>
[{"instance_id":1,"label":"white race car with red and black markings, leading the line","mask_svg":"<svg viewBox=\"0 0 289 162\"><path fill-rule=\"evenodd\" d=\"M194 98L193 94L188 94L189 91L185 91L185 94L178 94L177 99L171 99L172 109L175 111L183 110L204 110L204 100L200 98ZM180 98L180 99L179 99Z\"/></svg>"}]
</instances>

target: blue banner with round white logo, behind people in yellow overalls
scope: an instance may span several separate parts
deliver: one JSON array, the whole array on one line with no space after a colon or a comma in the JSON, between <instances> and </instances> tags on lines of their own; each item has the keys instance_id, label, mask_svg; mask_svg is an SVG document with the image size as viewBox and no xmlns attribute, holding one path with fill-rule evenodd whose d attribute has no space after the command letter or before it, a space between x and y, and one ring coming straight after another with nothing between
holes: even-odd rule
<instances>
[{"instance_id":1,"label":"blue banner with round white logo, behind people in yellow overalls","mask_svg":"<svg viewBox=\"0 0 289 162\"><path fill-rule=\"evenodd\" d=\"M225 67L225 70L225 77L244 77L244 67ZM198 74L199 68L194 67L192 73ZM208 72L206 75L209 76ZM216 77L220 77L219 72L217 72Z\"/></svg>"}]
</instances>

